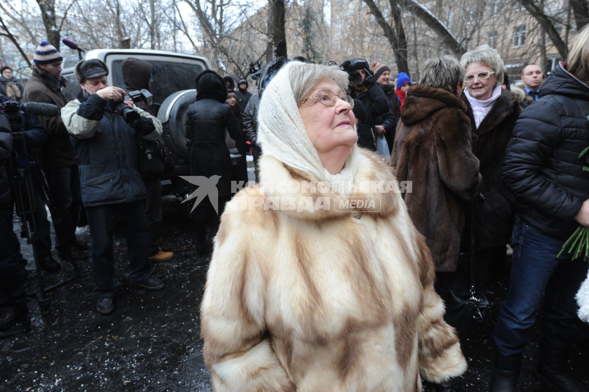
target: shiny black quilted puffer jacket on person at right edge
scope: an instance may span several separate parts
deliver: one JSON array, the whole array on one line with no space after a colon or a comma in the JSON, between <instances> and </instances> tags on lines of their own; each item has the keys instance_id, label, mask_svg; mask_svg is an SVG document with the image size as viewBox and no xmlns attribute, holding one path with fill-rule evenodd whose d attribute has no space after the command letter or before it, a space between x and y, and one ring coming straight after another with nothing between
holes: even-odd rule
<instances>
[{"instance_id":1,"label":"shiny black quilted puffer jacket on person at right edge","mask_svg":"<svg viewBox=\"0 0 589 392\"><path fill-rule=\"evenodd\" d=\"M578 154L589 146L589 86L561 62L540 99L519 116L505 152L503 180L516 213L532 228L566 239L589 199L589 172Z\"/></svg>"}]
</instances>

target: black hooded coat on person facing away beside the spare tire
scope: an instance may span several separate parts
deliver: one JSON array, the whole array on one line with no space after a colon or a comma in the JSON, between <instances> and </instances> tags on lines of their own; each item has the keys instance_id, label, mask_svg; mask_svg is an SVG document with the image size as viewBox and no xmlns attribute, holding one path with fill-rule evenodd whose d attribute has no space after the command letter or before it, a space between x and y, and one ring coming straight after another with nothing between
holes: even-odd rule
<instances>
[{"instance_id":1,"label":"black hooded coat on person facing away beside the spare tire","mask_svg":"<svg viewBox=\"0 0 589 392\"><path fill-rule=\"evenodd\" d=\"M191 176L221 176L219 196L231 195L231 158L225 143L225 131L239 140L241 131L229 105L227 88L214 71L204 71L196 78L196 102L186 113L186 146L190 154Z\"/></svg>"}]
</instances>

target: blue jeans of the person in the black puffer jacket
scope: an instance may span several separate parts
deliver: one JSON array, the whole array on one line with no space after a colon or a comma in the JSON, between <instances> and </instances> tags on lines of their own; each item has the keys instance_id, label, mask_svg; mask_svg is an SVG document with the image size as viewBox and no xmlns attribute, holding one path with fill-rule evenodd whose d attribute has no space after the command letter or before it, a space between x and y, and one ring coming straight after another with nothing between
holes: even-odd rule
<instances>
[{"instance_id":1,"label":"blue jeans of the person in the black puffer jacket","mask_svg":"<svg viewBox=\"0 0 589 392\"><path fill-rule=\"evenodd\" d=\"M565 350L577 330L577 294L587 277L587 262L571 260L568 253L557 258L564 241L531 228L515 217L511 247L511 281L493 337L499 354L520 354L528 342L527 331L534 325L541 306L541 345Z\"/></svg>"}]
</instances>

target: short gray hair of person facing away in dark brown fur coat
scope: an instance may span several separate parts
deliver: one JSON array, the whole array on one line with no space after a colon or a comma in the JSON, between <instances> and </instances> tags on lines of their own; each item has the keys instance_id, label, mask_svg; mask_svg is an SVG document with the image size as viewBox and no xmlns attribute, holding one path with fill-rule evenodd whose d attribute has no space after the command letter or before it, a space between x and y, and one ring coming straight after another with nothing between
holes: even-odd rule
<instances>
[{"instance_id":1,"label":"short gray hair of person facing away in dark brown fur coat","mask_svg":"<svg viewBox=\"0 0 589 392\"><path fill-rule=\"evenodd\" d=\"M456 94L456 86L464 80L464 68L450 55L432 58L423 64L419 84L442 88Z\"/></svg>"}]
</instances>

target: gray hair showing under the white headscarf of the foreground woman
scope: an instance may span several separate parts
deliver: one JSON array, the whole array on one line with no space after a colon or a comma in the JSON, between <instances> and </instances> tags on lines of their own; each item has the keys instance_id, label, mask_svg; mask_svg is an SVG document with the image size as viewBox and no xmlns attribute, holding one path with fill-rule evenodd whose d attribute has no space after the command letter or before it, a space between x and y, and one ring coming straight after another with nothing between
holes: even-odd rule
<instances>
[{"instance_id":1,"label":"gray hair showing under the white headscarf of the foreground woman","mask_svg":"<svg viewBox=\"0 0 589 392\"><path fill-rule=\"evenodd\" d=\"M300 65L292 65L289 70L290 88L293 90L294 99L297 104L305 100L309 95L315 93L311 91L319 81L331 79L348 93L348 74L340 70L337 65L308 64L306 62L296 61ZM335 91L333 91L335 93Z\"/></svg>"}]
</instances>

